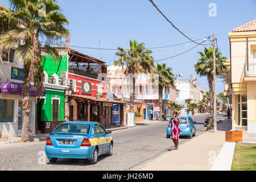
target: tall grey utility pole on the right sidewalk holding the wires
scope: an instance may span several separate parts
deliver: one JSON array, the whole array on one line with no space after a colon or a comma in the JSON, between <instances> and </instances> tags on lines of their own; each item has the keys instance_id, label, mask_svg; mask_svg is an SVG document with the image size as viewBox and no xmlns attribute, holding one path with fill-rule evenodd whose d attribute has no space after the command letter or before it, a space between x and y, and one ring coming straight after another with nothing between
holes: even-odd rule
<instances>
[{"instance_id":1,"label":"tall grey utility pole on the right sidewalk holding the wires","mask_svg":"<svg viewBox=\"0 0 256 182\"><path fill-rule=\"evenodd\" d=\"M213 122L214 132L217 131L217 108L216 108L216 57L215 57L215 35L212 34L212 46L213 46L213 82L214 82L214 96L213 96Z\"/></svg>"}]
</instances>

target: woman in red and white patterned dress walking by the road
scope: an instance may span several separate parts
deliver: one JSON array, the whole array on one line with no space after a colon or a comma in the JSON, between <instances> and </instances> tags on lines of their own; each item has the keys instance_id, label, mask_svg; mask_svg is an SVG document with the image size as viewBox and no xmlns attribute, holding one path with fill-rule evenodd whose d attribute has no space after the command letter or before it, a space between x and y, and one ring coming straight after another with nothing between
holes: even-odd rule
<instances>
[{"instance_id":1,"label":"woman in red and white patterned dress walking by the road","mask_svg":"<svg viewBox=\"0 0 256 182\"><path fill-rule=\"evenodd\" d=\"M175 147L172 150L177 150L177 145L179 144L180 137L180 118L177 116L177 113L172 113L171 120L171 139L174 142Z\"/></svg>"}]
</instances>

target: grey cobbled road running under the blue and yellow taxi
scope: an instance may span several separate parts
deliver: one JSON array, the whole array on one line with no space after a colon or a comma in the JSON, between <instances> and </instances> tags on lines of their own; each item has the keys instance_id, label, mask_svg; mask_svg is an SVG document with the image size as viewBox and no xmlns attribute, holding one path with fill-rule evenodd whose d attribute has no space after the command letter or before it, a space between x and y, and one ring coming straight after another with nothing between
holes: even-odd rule
<instances>
[{"instance_id":1,"label":"grey cobbled road running under the blue and yellow taxi","mask_svg":"<svg viewBox=\"0 0 256 182\"><path fill-rule=\"evenodd\" d=\"M200 114L193 117L197 122L197 136L204 133L203 122L206 116L207 114ZM222 118L221 115L217 117ZM95 165L82 159L58 159L57 163L51 164L42 155L45 142L31 142L0 147L0 170L127 170L174 147L171 139L166 138L167 122L140 124L129 129L113 131L113 155L100 156ZM189 140L181 137L180 144Z\"/></svg>"}]
</instances>

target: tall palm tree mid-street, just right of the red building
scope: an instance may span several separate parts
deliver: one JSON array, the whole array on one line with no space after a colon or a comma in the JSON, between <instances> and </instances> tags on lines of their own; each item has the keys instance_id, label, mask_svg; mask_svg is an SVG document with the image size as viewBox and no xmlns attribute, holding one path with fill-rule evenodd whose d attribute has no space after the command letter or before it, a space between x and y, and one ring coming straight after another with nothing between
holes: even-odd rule
<instances>
[{"instance_id":1,"label":"tall palm tree mid-street, just right of the red building","mask_svg":"<svg viewBox=\"0 0 256 182\"><path fill-rule=\"evenodd\" d=\"M130 40L130 49L125 50L121 47L117 48L118 51L115 55L119 56L117 61L114 61L114 65L124 64L126 65L125 75L133 74L133 89L130 94L130 113L134 113L134 94L135 94L135 75L140 73L152 73L155 72L154 58L150 56L152 51L147 50L144 43L138 43L136 40Z\"/></svg>"}]
</instances>

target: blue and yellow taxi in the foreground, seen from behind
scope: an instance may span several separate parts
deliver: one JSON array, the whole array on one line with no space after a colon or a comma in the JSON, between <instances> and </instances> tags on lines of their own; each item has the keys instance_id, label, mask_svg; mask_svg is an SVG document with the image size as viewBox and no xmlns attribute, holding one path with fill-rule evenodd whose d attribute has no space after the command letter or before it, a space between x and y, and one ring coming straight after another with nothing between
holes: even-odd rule
<instances>
[{"instance_id":1,"label":"blue and yellow taxi in the foreground, seen from behind","mask_svg":"<svg viewBox=\"0 0 256 182\"><path fill-rule=\"evenodd\" d=\"M46 155L51 163L58 158L88 159L96 164L98 156L113 154L110 130L98 122L63 122L46 139Z\"/></svg>"}]
</instances>

